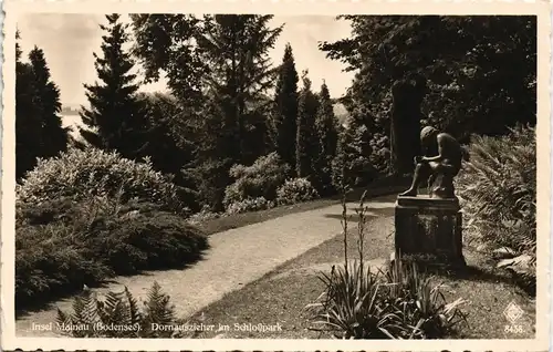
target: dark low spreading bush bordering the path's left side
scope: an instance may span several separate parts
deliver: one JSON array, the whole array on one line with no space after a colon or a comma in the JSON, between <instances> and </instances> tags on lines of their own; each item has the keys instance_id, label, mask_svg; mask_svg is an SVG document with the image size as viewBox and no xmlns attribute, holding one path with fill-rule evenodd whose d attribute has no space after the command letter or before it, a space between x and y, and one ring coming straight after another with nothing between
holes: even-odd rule
<instances>
[{"instance_id":1,"label":"dark low spreading bush bordering the path's left side","mask_svg":"<svg viewBox=\"0 0 553 352\"><path fill-rule=\"evenodd\" d=\"M153 204L107 197L18 204L18 304L50 299L115 275L181 267L199 258L206 236Z\"/></svg>"}]
</instances>

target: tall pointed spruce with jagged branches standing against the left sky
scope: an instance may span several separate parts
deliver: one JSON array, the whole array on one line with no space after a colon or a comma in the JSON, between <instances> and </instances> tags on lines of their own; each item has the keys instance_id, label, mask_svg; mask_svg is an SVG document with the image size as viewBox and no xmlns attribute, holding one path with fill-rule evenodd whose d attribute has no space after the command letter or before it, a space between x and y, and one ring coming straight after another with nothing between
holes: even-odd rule
<instances>
[{"instance_id":1,"label":"tall pointed spruce with jagged branches standing against the left sky","mask_svg":"<svg viewBox=\"0 0 553 352\"><path fill-rule=\"evenodd\" d=\"M107 14L107 25L100 25L106 34L102 37L102 56L94 54L94 58L103 83L84 85L90 108L82 107L81 118L90 130L80 130L93 146L117 151L134 159L144 156L147 122L143 105L136 97L136 75L131 73L134 61L123 50L128 41L127 25L119 18L116 13Z\"/></svg>"}]
</instances>

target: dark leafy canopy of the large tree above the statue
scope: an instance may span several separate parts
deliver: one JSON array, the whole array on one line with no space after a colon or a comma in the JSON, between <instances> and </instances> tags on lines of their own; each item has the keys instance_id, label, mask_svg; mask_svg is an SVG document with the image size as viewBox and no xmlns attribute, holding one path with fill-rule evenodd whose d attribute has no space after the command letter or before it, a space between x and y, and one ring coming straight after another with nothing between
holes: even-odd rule
<instances>
[{"instance_id":1,"label":"dark leafy canopy of the large tree above the statue","mask_svg":"<svg viewBox=\"0 0 553 352\"><path fill-rule=\"evenodd\" d=\"M344 62L346 71L357 71L343 102L351 114L363 112L366 117L363 124L371 135L372 154L388 154L392 86L411 73L427 80L422 123L451 133L461 143L473 133L498 135L518 122L535 124L535 17L340 19L351 22L352 35L323 42L320 49ZM389 158L372 158L378 170L388 170Z\"/></svg>"}]
</instances>

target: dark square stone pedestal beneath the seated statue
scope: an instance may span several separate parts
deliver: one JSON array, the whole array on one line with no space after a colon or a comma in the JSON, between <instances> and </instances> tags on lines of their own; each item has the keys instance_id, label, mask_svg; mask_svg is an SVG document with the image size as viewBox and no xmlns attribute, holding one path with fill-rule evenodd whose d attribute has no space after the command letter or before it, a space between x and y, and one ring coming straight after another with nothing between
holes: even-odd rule
<instances>
[{"instance_id":1,"label":"dark square stone pedestal beneath the seated statue","mask_svg":"<svg viewBox=\"0 0 553 352\"><path fill-rule=\"evenodd\" d=\"M398 196L395 215L396 255L432 255L465 267L462 215L457 198Z\"/></svg>"}]
</instances>

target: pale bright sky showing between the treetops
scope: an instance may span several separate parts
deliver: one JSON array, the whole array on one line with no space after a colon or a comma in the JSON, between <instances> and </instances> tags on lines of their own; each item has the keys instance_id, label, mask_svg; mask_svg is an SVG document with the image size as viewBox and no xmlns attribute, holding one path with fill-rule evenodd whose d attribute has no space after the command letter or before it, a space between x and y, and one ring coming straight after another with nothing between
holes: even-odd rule
<instances>
[{"instance_id":1,"label":"pale bright sky showing between the treetops","mask_svg":"<svg viewBox=\"0 0 553 352\"><path fill-rule=\"evenodd\" d=\"M124 19L128 21L127 15ZM44 51L64 106L86 104L83 83L92 84L97 80L93 53L100 52L101 23L105 23L105 17L97 13L27 13L18 19L23 55L34 45ZM282 62L284 45L290 42L298 73L301 75L302 70L309 69L314 90L319 90L324 80L331 96L342 96L351 85L353 73L343 72L345 66L341 62L326 59L317 49L317 42L348 37L349 23L328 15L275 15L270 25L282 23L284 29L270 52L273 63ZM165 91L166 85L160 81L140 90Z\"/></svg>"}]
</instances>

